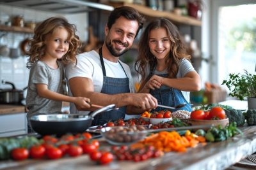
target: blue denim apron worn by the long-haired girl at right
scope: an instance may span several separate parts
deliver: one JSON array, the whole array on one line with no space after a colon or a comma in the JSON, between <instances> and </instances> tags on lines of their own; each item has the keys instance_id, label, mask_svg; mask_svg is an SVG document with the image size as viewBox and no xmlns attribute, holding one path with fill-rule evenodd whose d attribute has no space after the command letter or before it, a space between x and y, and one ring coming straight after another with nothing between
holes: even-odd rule
<instances>
[{"instance_id":1,"label":"blue denim apron worn by the long-haired girl at right","mask_svg":"<svg viewBox=\"0 0 256 170\"><path fill-rule=\"evenodd\" d=\"M154 67L154 69L152 69L150 71L150 75L149 75L150 77L154 75L155 70L156 70L156 66ZM166 74L156 74L156 75L161 76L161 77L168 77L167 73ZM165 85L162 85L160 87L160 89L150 90L150 94L152 94L152 96L156 97L158 104L161 104L164 106L174 107L180 103L186 103L186 105L182 108L175 109L175 110L172 110L172 109L167 109L167 110L170 110L172 112L177 111L177 110L192 111L190 104L184 98L182 92L178 89L174 89L172 87L167 87ZM161 110L166 110L166 108L157 107L155 110L152 110L151 112L161 111Z\"/></svg>"}]
</instances>

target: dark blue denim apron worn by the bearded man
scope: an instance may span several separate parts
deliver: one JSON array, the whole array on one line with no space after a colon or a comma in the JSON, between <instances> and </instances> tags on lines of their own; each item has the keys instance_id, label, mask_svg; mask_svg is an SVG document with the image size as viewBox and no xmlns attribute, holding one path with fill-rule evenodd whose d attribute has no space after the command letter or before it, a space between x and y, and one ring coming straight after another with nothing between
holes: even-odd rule
<instances>
[{"instance_id":1,"label":"dark blue denim apron worn by the bearded man","mask_svg":"<svg viewBox=\"0 0 256 170\"><path fill-rule=\"evenodd\" d=\"M99 49L99 55L100 55L100 63L102 66L102 72L103 72L103 86L101 93L104 94L120 94L120 93L129 93L129 78L126 75L126 78L112 78L106 76L106 69L102 57L102 48ZM118 61L119 62L119 61ZM119 64L122 66L122 64L119 62ZM123 70L124 67L122 66ZM92 122L92 125L103 125L107 122L115 121L120 118L124 118L126 113L126 107L119 108L119 110L112 110L100 113L99 115L96 115L94 117L94 120Z\"/></svg>"}]
</instances>

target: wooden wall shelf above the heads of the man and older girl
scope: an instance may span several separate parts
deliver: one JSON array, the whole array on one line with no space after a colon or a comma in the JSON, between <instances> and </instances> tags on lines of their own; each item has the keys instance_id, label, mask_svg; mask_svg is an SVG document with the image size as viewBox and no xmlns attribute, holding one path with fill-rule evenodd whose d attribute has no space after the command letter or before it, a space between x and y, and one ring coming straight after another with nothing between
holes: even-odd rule
<instances>
[{"instance_id":1,"label":"wooden wall shelf above the heads of the man and older girl","mask_svg":"<svg viewBox=\"0 0 256 170\"><path fill-rule=\"evenodd\" d=\"M109 3L109 4L111 6L114 6L115 8L118 6L131 6L132 8L138 10L143 15L146 15L148 17L168 18L169 20L171 20L172 22L175 22L176 24L185 24L185 25L194 25L194 26L202 25L202 22L200 20L197 20L196 18L181 16L168 11L152 10L147 6L143 6L140 4L131 4L131 3Z\"/></svg>"}]
</instances>

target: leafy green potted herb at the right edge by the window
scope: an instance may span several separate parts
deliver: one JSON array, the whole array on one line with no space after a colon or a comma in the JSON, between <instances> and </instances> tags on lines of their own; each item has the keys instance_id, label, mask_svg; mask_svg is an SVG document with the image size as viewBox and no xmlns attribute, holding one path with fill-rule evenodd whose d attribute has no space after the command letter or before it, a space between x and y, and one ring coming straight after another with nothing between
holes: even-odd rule
<instances>
[{"instance_id":1,"label":"leafy green potted herb at the right edge by the window","mask_svg":"<svg viewBox=\"0 0 256 170\"><path fill-rule=\"evenodd\" d=\"M244 74L229 74L229 80L223 80L230 90L229 95L244 100L247 97L248 109L256 109L256 75L244 70Z\"/></svg>"}]
</instances>

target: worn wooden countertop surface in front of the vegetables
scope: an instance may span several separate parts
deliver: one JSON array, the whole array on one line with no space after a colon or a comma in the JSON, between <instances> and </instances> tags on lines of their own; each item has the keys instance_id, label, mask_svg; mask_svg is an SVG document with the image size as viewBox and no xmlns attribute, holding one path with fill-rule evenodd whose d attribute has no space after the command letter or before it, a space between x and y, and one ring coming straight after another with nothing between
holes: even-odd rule
<instances>
[{"instance_id":1,"label":"worn wooden countertop surface in front of the vegetables","mask_svg":"<svg viewBox=\"0 0 256 170\"><path fill-rule=\"evenodd\" d=\"M199 145L196 148L189 148L185 153L165 153L163 157L143 162L114 161L109 165L100 166L90 161L88 155L83 155L58 160L2 161L0 169L225 169L246 155L256 152L256 126L242 127L241 130L244 132L243 136L237 135L227 141Z\"/></svg>"}]
</instances>

